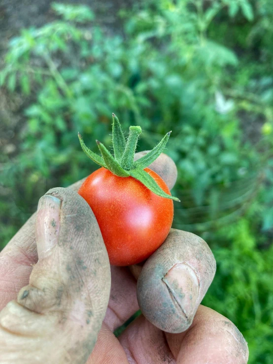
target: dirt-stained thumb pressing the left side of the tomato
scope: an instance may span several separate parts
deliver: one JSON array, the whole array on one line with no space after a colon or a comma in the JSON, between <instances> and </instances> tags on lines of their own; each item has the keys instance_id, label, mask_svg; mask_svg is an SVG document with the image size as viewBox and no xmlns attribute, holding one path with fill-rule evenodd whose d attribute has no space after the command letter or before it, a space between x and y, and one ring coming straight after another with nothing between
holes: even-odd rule
<instances>
[{"instance_id":1,"label":"dirt-stained thumb pressing the left side of the tomato","mask_svg":"<svg viewBox=\"0 0 273 364\"><path fill-rule=\"evenodd\" d=\"M39 201L39 262L17 301L0 312L2 363L82 363L102 325L109 260L92 210L56 188Z\"/></svg>"}]
</instances>

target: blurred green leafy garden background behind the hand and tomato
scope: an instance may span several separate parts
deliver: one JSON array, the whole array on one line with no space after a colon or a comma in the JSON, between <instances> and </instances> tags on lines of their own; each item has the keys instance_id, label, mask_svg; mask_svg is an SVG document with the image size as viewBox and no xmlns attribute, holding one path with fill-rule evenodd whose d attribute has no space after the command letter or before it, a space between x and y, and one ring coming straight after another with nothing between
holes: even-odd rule
<instances>
[{"instance_id":1,"label":"blurred green leafy garden background behind the hand and tomato","mask_svg":"<svg viewBox=\"0 0 273 364\"><path fill-rule=\"evenodd\" d=\"M96 169L77 132L111 147L111 114L172 130L173 227L217 261L203 303L251 364L273 363L273 1L0 3L0 249L49 188Z\"/></svg>"}]
</instances>

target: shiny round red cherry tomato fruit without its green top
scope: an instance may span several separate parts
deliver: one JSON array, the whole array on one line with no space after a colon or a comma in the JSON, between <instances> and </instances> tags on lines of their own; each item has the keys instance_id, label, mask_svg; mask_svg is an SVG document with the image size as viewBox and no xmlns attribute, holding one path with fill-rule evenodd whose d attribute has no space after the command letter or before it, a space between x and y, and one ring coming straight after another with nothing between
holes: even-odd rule
<instances>
[{"instance_id":1,"label":"shiny round red cherry tomato fruit without its green top","mask_svg":"<svg viewBox=\"0 0 273 364\"><path fill-rule=\"evenodd\" d=\"M156 172L144 170L171 195ZM133 177L118 177L102 167L87 177L78 194L96 216L111 265L142 262L170 232L173 201L155 195Z\"/></svg>"}]
</instances>

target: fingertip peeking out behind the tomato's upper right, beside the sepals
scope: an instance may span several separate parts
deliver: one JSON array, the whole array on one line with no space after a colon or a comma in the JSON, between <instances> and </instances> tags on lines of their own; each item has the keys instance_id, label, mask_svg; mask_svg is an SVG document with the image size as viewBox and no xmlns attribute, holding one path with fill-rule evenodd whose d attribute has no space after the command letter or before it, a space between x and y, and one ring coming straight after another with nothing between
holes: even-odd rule
<instances>
[{"instance_id":1,"label":"fingertip peeking out behind the tomato's upper right, beside the sepals","mask_svg":"<svg viewBox=\"0 0 273 364\"><path fill-rule=\"evenodd\" d=\"M137 161L148 152L149 150L136 153L134 160ZM177 168L171 157L167 156L165 153L161 153L160 156L149 165L149 168L164 179L170 190L172 189L177 179Z\"/></svg>"}]
</instances>

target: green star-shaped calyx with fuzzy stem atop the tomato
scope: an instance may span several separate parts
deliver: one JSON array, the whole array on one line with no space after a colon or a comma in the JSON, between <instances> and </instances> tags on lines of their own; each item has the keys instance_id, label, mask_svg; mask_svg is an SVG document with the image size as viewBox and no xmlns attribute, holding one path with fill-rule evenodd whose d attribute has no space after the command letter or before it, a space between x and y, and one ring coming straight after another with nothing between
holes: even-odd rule
<instances>
[{"instance_id":1,"label":"green star-shaped calyx with fuzzy stem atop the tomato","mask_svg":"<svg viewBox=\"0 0 273 364\"><path fill-rule=\"evenodd\" d=\"M93 162L104 168L109 169L113 174L119 177L132 176L136 178L138 181L143 183L143 185L146 186L150 191L158 196L164 197L166 199L180 201L176 197L166 194L161 189L161 187L159 187L156 181L150 176L150 174L144 170L144 168L148 167L151 163L153 163L157 159L157 157L163 152L171 132L168 132L150 152L134 162L136 144L140 134L140 127L130 127L129 136L126 141L124 134L121 130L119 120L116 115L113 114L112 143L114 156L112 156L112 154L105 148L105 146L100 141L96 140L102 154L102 156L98 156L96 153L92 152L89 148L87 148L87 146L83 142L80 133L78 133L78 137L82 150L87 155L87 157L92 159Z\"/></svg>"}]
</instances>

